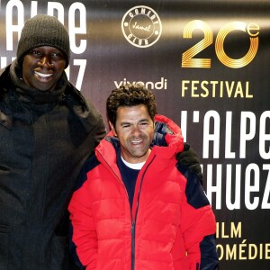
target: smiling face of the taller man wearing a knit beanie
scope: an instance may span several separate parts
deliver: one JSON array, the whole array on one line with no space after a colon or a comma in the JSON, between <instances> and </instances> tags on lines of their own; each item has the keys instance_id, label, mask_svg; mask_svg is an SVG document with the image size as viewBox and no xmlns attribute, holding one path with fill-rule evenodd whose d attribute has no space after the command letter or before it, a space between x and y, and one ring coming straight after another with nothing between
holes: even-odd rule
<instances>
[{"instance_id":1,"label":"smiling face of the taller man wearing a knit beanie","mask_svg":"<svg viewBox=\"0 0 270 270\"><path fill-rule=\"evenodd\" d=\"M23 81L40 91L52 91L66 66L63 53L54 47L31 49L23 58Z\"/></svg>"}]
</instances>

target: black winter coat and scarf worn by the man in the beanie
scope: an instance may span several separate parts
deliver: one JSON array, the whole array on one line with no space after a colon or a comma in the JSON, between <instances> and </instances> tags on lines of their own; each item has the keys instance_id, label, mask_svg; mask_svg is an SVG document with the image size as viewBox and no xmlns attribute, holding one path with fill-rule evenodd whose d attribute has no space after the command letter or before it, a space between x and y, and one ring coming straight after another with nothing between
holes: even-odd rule
<instances>
[{"instance_id":1,"label":"black winter coat and scarf worn by the man in the beanie","mask_svg":"<svg viewBox=\"0 0 270 270\"><path fill-rule=\"evenodd\" d=\"M65 73L53 93L19 77L0 76L0 269L71 269L67 204L103 119Z\"/></svg>"}]
</instances>

